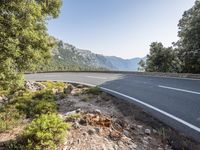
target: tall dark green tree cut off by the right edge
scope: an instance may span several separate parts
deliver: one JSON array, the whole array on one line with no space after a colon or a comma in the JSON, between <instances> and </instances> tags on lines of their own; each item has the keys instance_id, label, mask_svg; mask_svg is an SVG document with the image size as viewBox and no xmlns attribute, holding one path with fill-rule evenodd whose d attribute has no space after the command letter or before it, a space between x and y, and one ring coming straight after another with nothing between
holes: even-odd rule
<instances>
[{"instance_id":1,"label":"tall dark green tree cut off by the right edge","mask_svg":"<svg viewBox=\"0 0 200 150\"><path fill-rule=\"evenodd\" d=\"M182 72L200 73L200 1L184 12L178 24L177 42Z\"/></svg>"}]
</instances>

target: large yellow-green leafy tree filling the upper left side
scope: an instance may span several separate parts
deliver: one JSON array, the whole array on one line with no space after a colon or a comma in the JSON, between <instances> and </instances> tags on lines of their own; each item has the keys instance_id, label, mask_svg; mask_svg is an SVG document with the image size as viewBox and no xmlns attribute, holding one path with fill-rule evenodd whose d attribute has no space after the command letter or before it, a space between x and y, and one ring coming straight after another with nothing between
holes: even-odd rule
<instances>
[{"instance_id":1,"label":"large yellow-green leafy tree filling the upper left side","mask_svg":"<svg viewBox=\"0 0 200 150\"><path fill-rule=\"evenodd\" d=\"M0 0L0 88L23 83L23 72L50 57L46 21L59 15L61 0Z\"/></svg>"}]
</instances>

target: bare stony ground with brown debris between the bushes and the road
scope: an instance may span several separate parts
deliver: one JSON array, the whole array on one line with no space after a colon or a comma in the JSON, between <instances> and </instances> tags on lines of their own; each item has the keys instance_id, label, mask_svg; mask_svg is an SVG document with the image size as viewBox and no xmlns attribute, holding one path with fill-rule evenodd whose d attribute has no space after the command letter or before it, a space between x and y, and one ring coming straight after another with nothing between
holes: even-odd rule
<instances>
[{"instance_id":1,"label":"bare stony ground with brown debris between the bushes and the road","mask_svg":"<svg viewBox=\"0 0 200 150\"><path fill-rule=\"evenodd\" d=\"M44 89L41 83L27 82L26 88ZM54 89L58 112L72 127L62 150L171 150L198 149L173 129L133 104L84 85L66 84L65 95ZM6 98L4 98L6 99ZM26 122L26 121L25 121ZM0 133L0 143L14 139L23 126Z\"/></svg>"}]
</instances>

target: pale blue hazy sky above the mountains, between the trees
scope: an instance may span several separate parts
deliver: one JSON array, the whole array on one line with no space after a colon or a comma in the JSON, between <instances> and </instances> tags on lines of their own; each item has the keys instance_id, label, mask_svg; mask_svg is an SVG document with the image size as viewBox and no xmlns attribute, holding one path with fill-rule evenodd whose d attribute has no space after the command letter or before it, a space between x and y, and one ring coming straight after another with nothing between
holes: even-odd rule
<instances>
[{"instance_id":1,"label":"pale blue hazy sky above the mountains, between the trees","mask_svg":"<svg viewBox=\"0 0 200 150\"><path fill-rule=\"evenodd\" d=\"M63 0L48 32L81 49L144 57L151 42L177 41L178 21L195 0Z\"/></svg>"}]
</instances>

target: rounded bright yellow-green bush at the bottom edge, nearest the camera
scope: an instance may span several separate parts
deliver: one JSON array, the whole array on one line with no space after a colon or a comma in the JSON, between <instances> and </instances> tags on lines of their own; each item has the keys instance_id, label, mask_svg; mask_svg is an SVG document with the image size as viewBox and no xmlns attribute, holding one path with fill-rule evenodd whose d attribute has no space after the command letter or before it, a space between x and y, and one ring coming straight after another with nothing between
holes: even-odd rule
<instances>
[{"instance_id":1,"label":"rounded bright yellow-green bush at the bottom edge, nearest the camera","mask_svg":"<svg viewBox=\"0 0 200 150\"><path fill-rule=\"evenodd\" d=\"M26 127L22 134L25 149L56 149L64 140L70 125L56 114L41 115Z\"/></svg>"}]
</instances>

